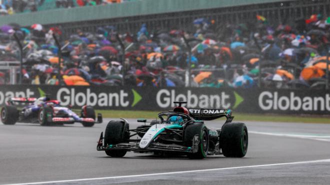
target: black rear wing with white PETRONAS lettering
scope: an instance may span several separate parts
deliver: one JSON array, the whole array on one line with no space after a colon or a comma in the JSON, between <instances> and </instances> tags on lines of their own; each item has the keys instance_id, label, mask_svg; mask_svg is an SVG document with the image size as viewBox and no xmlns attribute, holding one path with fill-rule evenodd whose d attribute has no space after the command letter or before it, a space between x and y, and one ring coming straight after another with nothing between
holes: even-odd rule
<instances>
[{"instance_id":1,"label":"black rear wing with white PETRONAS lettering","mask_svg":"<svg viewBox=\"0 0 330 185\"><path fill-rule=\"evenodd\" d=\"M226 117L226 122L231 122L233 116L231 116L230 109L189 109L189 115L195 120L215 120L221 117Z\"/></svg>"}]
</instances>

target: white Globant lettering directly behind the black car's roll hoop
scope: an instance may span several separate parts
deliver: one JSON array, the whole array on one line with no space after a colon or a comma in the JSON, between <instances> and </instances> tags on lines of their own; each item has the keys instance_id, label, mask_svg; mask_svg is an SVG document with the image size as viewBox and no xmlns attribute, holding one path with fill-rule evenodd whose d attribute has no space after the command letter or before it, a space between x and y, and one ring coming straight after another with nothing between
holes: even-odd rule
<instances>
[{"instance_id":1,"label":"white Globant lettering directly behind the black car's roll hoop","mask_svg":"<svg viewBox=\"0 0 330 185\"><path fill-rule=\"evenodd\" d=\"M225 92L219 94L193 94L187 90L184 94L176 94L175 90L161 89L156 94L156 102L160 108L174 107L174 101L187 102L189 108L222 108L228 109L231 104L229 103L230 96Z\"/></svg>"}]
</instances>

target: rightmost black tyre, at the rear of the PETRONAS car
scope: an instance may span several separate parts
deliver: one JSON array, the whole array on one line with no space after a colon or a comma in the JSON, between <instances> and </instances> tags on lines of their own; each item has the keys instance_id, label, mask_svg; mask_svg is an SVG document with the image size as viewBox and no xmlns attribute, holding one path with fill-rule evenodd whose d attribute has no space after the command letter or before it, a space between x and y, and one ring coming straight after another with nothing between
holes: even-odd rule
<instances>
[{"instance_id":1,"label":"rightmost black tyre, at the rear of the PETRONAS car","mask_svg":"<svg viewBox=\"0 0 330 185\"><path fill-rule=\"evenodd\" d=\"M247 152L248 135L244 123L226 123L221 128L220 147L225 157L242 158Z\"/></svg>"}]
</instances>

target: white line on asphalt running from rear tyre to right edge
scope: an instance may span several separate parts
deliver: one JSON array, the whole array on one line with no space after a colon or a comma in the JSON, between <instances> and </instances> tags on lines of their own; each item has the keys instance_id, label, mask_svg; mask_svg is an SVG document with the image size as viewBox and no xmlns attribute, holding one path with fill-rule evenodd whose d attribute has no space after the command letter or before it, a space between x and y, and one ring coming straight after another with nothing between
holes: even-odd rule
<instances>
[{"instance_id":1,"label":"white line on asphalt running from rear tyre to right edge","mask_svg":"<svg viewBox=\"0 0 330 185\"><path fill-rule=\"evenodd\" d=\"M287 134L287 133L269 133L269 132L257 132L257 131L248 131L248 133L330 142L330 136L313 136L313 135L306 135L306 134Z\"/></svg>"}]
</instances>

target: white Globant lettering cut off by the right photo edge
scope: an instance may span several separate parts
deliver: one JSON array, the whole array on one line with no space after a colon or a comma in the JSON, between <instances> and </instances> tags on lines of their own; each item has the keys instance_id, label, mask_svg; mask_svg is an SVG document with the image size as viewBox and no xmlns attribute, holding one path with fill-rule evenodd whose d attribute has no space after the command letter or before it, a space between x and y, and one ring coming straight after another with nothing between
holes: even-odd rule
<instances>
[{"instance_id":1,"label":"white Globant lettering cut off by the right photo edge","mask_svg":"<svg viewBox=\"0 0 330 185\"><path fill-rule=\"evenodd\" d=\"M262 110L281 110L281 111L330 111L330 96L310 97L295 96L290 92L290 96L278 96L277 92L264 91L258 98L259 107Z\"/></svg>"}]
</instances>

